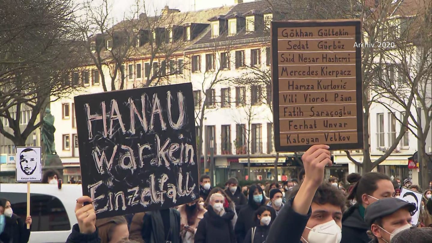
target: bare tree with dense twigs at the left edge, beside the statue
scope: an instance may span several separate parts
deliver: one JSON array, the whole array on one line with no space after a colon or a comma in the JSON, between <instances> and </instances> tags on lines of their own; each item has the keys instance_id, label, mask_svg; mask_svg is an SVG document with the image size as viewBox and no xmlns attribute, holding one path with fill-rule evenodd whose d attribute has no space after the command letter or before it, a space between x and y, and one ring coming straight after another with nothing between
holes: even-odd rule
<instances>
[{"instance_id":1,"label":"bare tree with dense twigs at the left edge, beside the statue","mask_svg":"<svg viewBox=\"0 0 432 243\"><path fill-rule=\"evenodd\" d=\"M72 70L83 64L75 11L72 0L2 3L0 133L16 146L24 146L42 125L37 118L49 102L80 86L69 80Z\"/></svg>"}]
</instances>

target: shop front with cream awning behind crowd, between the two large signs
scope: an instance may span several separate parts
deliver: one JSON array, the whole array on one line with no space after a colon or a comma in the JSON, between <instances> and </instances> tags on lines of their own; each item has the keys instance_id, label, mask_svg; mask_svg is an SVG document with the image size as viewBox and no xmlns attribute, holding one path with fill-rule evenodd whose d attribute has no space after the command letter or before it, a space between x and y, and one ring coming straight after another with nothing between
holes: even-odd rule
<instances>
[{"instance_id":1,"label":"shop front with cream awning behind crowd, between the two large signs","mask_svg":"<svg viewBox=\"0 0 432 243\"><path fill-rule=\"evenodd\" d=\"M274 160L275 157L265 157L265 158L251 158L251 180L257 181L273 181L276 180L276 175L274 174ZM247 174L248 169L248 158L239 158L239 164L242 164L245 168L245 174ZM280 157L277 163L277 174L278 181L291 177L292 170L294 167L289 167L286 163L285 157Z\"/></svg>"}]
</instances>

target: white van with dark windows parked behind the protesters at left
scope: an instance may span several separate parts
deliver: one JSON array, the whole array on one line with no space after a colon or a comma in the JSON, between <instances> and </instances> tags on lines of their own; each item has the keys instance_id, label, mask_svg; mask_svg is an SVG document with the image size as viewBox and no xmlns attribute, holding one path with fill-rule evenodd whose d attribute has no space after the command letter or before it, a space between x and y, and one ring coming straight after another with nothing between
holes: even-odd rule
<instances>
[{"instance_id":1,"label":"white van with dark windows parked behind the protesters at left","mask_svg":"<svg viewBox=\"0 0 432 243\"><path fill-rule=\"evenodd\" d=\"M63 184L61 189L53 184L30 185L30 215L32 232L29 243L65 243L77 223L76 199L83 195L81 185ZM0 198L10 201L13 213L23 220L27 215L27 184L0 184Z\"/></svg>"}]
</instances>

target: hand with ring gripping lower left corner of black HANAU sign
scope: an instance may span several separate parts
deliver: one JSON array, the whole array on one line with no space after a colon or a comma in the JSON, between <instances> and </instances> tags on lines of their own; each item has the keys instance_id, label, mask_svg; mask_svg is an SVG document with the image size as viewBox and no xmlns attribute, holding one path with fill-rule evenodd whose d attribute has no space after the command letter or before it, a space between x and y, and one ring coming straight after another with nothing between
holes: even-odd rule
<instances>
[{"instance_id":1,"label":"hand with ring gripping lower left corner of black HANAU sign","mask_svg":"<svg viewBox=\"0 0 432 243\"><path fill-rule=\"evenodd\" d=\"M83 206L84 202L89 202L90 204ZM92 205L92 198L89 196L78 198L76 200L75 215L80 233L91 234L96 231L96 214Z\"/></svg>"}]
</instances>

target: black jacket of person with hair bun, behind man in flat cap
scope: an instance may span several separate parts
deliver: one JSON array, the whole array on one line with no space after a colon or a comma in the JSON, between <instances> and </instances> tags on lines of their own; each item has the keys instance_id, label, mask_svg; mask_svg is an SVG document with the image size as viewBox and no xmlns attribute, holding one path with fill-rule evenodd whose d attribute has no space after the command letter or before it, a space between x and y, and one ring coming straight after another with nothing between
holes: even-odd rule
<instances>
[{"instance_id":1,"label":"black jacket of person with hair bun, behind man in flat cap","mask_svg":"<svg viewBox=\"0 0 432 243\"><path fill-rule=\"evenodd\" d=\"M360 215L358 205L348 208L342 216L342 240L340 243L368 243L369 227Z\"/></svg>"}]
</instances>

